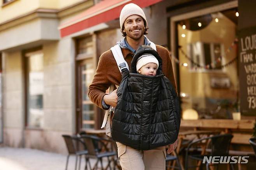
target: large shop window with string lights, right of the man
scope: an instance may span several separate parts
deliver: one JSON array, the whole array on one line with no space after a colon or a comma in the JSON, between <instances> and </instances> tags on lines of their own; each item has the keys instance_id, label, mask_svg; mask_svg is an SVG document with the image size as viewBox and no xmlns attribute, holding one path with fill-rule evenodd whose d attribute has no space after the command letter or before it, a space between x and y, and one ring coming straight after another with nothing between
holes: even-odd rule
<instances>
[{"instance_id":1,"label":"large shop window with string lights, right of the man","mask_svg":"<svg viewBox=\"0 0 256 170\"><path fill-rule=\"evenodd\" d=\"M176 22L183 111L222 119L239 111L236 13L234 8Z\"/></svg>"}]
</instances>

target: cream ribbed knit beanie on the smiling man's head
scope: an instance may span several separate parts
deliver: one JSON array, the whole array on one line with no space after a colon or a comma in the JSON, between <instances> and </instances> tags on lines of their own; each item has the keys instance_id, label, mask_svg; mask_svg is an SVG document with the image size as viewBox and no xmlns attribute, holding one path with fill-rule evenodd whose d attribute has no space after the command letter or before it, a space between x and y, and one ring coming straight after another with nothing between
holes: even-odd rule
<instances>
[{"instance_id":1,"label":"cream ribbed knit beanie on the smiling man's head","mask_svg":"<svg viewBox=\"0 0 256 170\"><path fill-rule=\"evenodd\" d=\"M123 7L123 9L121 10L121 13L120 13L119 20L120 20L120 28L121 29L123 27L123 24L124 24L124 21L126 20L126 18L128 18L129 16L132 16L132 15L138 15L138 16L142 17L145 21L145 27L147 26L147 19L146 19L146 16L145 16L143 10L138 5L136 5L134 3L128 3Z\"/></svg>"}]
</instances>

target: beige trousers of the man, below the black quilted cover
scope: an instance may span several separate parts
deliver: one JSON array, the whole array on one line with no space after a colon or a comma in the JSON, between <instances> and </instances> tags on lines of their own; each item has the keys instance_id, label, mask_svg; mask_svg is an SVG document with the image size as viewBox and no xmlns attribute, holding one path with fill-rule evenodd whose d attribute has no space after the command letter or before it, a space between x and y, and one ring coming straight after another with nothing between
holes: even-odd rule
<instances>
[{"instance_id":1,"label":"beige trousers of the man, below the black quilted cover","mask_svg":"<svg viewBox=\"0 0 256 170\"><path fill-rule=\"evenodd\" d=\"M122 170L165 170L165 146L140 151L119 142L116 144Z\"/></svg>"}]
</instances>

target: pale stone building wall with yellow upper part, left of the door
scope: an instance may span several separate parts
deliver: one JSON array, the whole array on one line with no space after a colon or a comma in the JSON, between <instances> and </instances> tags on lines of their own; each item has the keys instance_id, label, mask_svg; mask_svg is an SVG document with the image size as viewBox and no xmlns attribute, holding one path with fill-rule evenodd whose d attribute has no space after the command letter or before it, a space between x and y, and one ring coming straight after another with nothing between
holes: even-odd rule
<instances>
[{"instance_id":1,"label":"pale stone building wall with yellow upper part, left of the door","mask_svg":"<svg viewBox=\"0 0 256 170\"><path fill-rule=\"evenodd\" d=\"M65 152L75 133L73 39L58 26L93 1L0 1L2 142Z\"/></svg>"}]
</instances>

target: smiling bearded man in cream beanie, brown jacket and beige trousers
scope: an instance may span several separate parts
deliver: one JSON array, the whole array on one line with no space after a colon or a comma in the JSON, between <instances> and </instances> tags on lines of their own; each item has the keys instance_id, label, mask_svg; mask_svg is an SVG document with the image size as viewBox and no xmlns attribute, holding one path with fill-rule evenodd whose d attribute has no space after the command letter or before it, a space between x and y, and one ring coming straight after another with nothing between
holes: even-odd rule
<instances>
[{"instance_id":1,"label":"smiling bearded man in cream beanie, brown jacket and beige trousers","mask_svg":"<svg viewBox=\"0 0 256 170\"><path fill-rule=\"evenodd\" d=\"M129 3L123 7L120 13L120 28L123 38L118 44L129 68L132 58L140 45L150 45L147 40L147 20L143 10L134 3ZM170 55L167 49L156 45L158 54L162 57L163 73L172 82L175 89L176 84L172 69ZM111 50L104 52L99 59L96 74L89 85L88 95L93 103L102 109L109 109L110 106L117 105L117 90L111 94L105 94L111 84L119 85L121 73ZM167 153L171 153L177 146L177 141L169 145ZM166 152L165 147L151 149L149 151L138 151L131 147L117 142L118 157L123 170L154 170L165 169Z\"/></svg>"}]
</instances>

